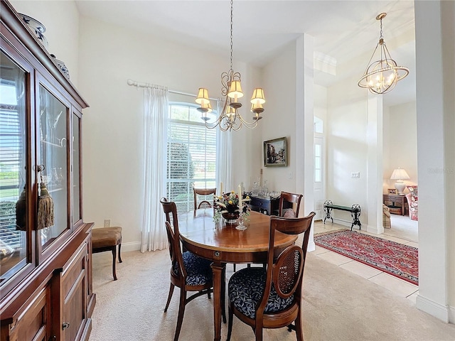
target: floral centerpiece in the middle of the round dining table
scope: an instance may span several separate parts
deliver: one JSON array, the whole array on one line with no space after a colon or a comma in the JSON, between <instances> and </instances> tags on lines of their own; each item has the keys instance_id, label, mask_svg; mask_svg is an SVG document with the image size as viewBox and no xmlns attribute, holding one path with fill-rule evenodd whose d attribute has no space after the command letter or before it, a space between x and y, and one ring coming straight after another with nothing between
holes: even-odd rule
<instances>
[{"instance_id":1,"label":"floral centerpiece in the middle of the round dining table","mask_svg":"<svg viewBox=\"0 0 455 341\"><path fill-rule=\"evenodd\" d=\"M247 201L250 201L250 197L241 199L237 193L233 190L230 193L221 193L220 196L214 197L214 209L215 215L213 215L213 220L215 222L220 221L220 217L225 218L226 224L235 224L237 219L242 213L243 217L250 214L250 207L247 205ZM242 212L240 212L240 207L242 207Z\"/></svg>"}]
</instances>

